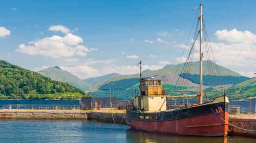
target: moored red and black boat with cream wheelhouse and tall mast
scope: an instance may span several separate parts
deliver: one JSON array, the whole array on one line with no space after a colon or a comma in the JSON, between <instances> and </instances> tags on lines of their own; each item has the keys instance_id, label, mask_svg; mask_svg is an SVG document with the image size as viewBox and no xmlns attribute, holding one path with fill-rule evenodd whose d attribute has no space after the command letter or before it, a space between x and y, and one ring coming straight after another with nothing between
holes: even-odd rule
<instances>
[{"instance_id":1,"label":"moored red and black boat with cream wheelhouse and tall mast","mask_svg":"<svg viewBox=\"0 0 256 143\"><path fill-rule=\"evenodd\" d=\"M168 95L162 88L163 80L154 77L142 78L141 64L139 91L133 95L133 103L126 109L126 123L132 129L171 134L226 136L228 132L228 97L224 95L208 101L203 91L202 70L202 5L199 7L200 30L200 88L195 95ZM199 27L198 27L199 28ZM134 92L133 92L134 93ZM204 102L206 95L207 102ZM182 108L168 109L168 98L198 98L198 104L186 105Z\"/></svg>"}]
</instances>

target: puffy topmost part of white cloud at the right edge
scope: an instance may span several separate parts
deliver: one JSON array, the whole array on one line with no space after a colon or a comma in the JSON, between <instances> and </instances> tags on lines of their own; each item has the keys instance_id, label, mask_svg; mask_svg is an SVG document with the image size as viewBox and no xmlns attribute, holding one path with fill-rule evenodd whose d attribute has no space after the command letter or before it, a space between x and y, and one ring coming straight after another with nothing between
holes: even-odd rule
<instances>
[{"instance_id":1,"label":"puffy topmost part of white cloud at the right edge","mask_svg":"<svg viewBox=\"0 0 256 143\"><path fill-rule=\"evenodd\" d=\"M234 28L231 31L222 30L217 31L214 34L218 39L228 41L231 43L247 43L247 44L256 44L256 35L249 31L238 31Z\"/></svg>"}]
</instances>

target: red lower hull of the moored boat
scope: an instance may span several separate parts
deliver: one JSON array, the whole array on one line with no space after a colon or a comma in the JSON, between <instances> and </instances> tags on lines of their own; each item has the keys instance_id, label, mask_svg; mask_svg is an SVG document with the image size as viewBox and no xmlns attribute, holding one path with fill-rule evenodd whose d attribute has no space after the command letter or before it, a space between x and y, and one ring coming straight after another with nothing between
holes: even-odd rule
<instances>
[{"instance_id":1,"label":"red lower hull of the moored boat","mask_svg":"<svg viewBox=\"0 0 256 143\"><path fill-rule=\"evenodd\" d=\"M142 121L132 120L131 128L165 132L173 134L205 135L205 136L225 136L228 130L228 112L219 113L226 123L218 118L215 113L189 117L170 121Z\"/></svg>"}]
</instances>

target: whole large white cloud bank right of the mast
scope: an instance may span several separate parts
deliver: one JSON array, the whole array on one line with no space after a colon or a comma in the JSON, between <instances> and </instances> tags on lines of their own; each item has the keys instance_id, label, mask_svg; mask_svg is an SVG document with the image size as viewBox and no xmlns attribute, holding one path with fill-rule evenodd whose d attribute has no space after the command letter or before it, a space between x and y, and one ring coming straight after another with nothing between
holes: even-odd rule
<instances>
[{"instance_id":1,"label":"whole large white cloud bank right of the mast","mask_svg":"<svg viewBox=\"0 0 256 143\"><path fill-rule=\"evenodd\" d=\"M224 42L211 42L217 63L223 66L256 68L256 35L249 31L221 30L214 34Z\"/></svg>"}]
</instances>

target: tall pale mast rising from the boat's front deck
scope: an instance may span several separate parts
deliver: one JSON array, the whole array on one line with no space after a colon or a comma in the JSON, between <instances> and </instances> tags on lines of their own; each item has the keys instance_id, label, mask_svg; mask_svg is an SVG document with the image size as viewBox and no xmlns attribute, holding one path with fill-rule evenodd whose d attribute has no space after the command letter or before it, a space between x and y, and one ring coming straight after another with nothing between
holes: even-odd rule
<instances>
[{"instance_id":1,"label":"tall pale mast rising from the boat's front deck","mask_svg":"<svg viewBox=\"0 0 256 143\"><path fill-rule=\"evenodd\" d=\"M202 4L200 4L200 90L199 90L199 104L203 103L203 52L202 52L202 23L203 23L203 15L202 15Z\"/></svg>"}]
</instances>

